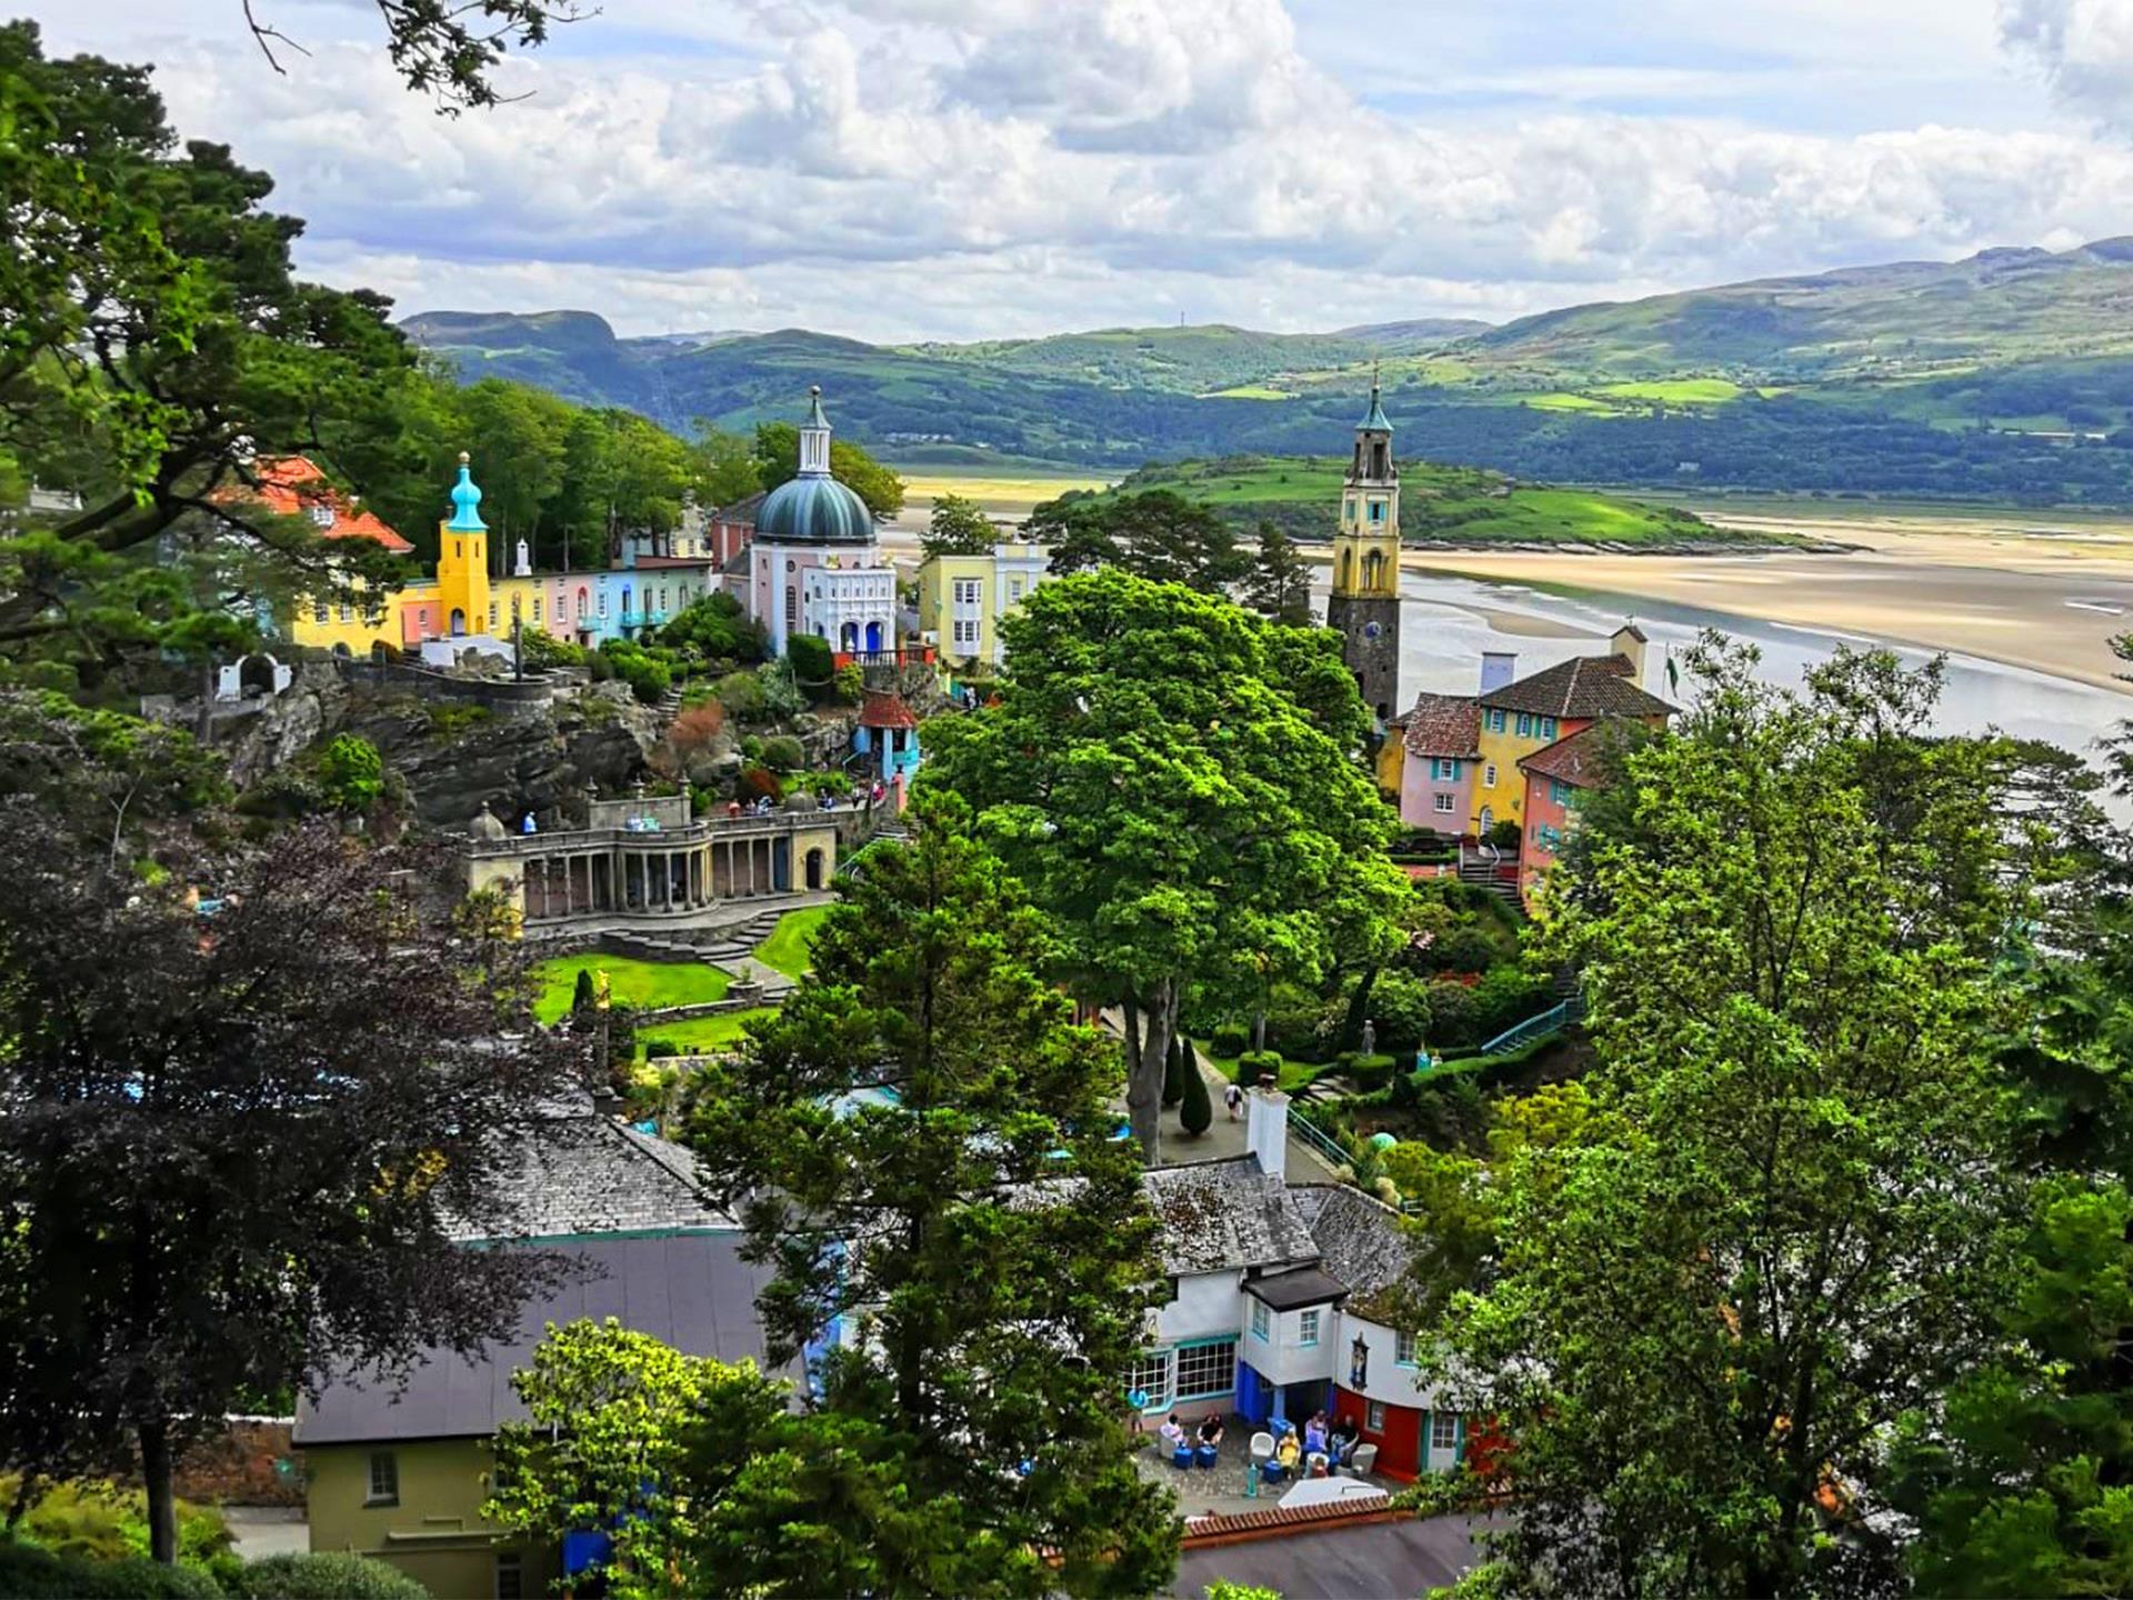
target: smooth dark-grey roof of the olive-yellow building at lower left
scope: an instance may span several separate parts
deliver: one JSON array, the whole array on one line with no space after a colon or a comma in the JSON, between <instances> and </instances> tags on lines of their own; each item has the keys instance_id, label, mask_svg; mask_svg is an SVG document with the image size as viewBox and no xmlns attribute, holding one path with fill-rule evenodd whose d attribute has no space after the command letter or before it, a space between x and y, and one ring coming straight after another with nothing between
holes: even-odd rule
<instances>
[{"instance_id":1,"label":"smooth dark-grey roof of the olive-yellow building at lower left","mask_svg":"<svg viewBox=\"0 0 2133 1600\"><path fill-rule=\"evenodd\" d=\"M738 1233L619 1235L563 1246L589 1271L533 1299L503 1344L467 1361L429 1350L395 1389L356 1378L328 1380L296 1408L299 1446L373 1444L416 1438L486 1438L520 1421L512 1372L533 1359L548 1323L612 1316L687 1355L764 1363L755 1297L768 1271L740 1259Z\"/></svg>"}]
</instances>

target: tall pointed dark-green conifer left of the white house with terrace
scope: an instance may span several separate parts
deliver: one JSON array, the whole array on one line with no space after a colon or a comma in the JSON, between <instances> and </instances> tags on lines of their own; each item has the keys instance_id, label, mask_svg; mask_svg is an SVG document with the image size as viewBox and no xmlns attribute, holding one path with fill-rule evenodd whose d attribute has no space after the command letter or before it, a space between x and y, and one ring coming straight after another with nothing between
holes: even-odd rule
<instances>
[{"instance_id":1,"label":"tall pointed dark-green conifer left of the white house with terrace","mask_svg":"<svg viewBox=\"0 0 2133 1600\"><path fill-rule=\"evenodd\" d=\"M1118 1052L1073 1026L1043 917L968 811L913 811L913 843L868 851L823 919L813 973L697 1090L689 1141L776 1274L772 1363L845 1333L783 1425L806 1470L715 1517L683 1583L1148 1594L1177 1532L1120 1414L1160 1267L1109 1137Z\"/></svg>"}]
</instances>

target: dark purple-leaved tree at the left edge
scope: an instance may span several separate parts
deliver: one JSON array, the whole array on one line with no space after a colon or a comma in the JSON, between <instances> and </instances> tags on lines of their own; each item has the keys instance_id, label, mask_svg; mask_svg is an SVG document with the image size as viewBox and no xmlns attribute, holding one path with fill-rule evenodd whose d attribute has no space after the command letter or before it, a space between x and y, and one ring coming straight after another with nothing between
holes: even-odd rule
<instances>
[{"instance_id":1,"label":"dark purple-leaved tree at the left edge","mask_svg":"<svg viewBox=\"0 0 2133 1600\"><path fill-rule=\"evenodd\" d=\"M578 1062L529 1026L512 922L420 905L435 853L130 836L139 862L0 802L0 1455L137 1451L169 1562L171 1463L211 1419L471 1350L557 1280L454 1237L501 1231L514 1137Z\"/></svg>"}]
</instances>

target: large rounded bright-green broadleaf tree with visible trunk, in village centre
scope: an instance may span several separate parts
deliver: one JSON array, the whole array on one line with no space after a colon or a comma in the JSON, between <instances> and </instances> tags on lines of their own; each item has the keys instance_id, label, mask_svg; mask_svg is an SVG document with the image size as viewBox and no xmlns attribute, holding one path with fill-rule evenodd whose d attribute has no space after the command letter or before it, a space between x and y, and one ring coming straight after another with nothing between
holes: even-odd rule
<instances>
[{"instance_id":1,"label":"large rounded bright-green broadleaf tree with visible trunk, in village centre","mask_svg":"<svg viewBox=\"0 0 2133 1600\"><path fill-rule=\"evenodd\" d=\"M1124 1007L1148 1158L1186 983L1258 994L1399 947L1406 877L1331 634L1124 572L1041 585L1000 625L998 704L928 727L921 785L979 806L1054 919L1062 977Z\"/></svg>"}]
</instances>

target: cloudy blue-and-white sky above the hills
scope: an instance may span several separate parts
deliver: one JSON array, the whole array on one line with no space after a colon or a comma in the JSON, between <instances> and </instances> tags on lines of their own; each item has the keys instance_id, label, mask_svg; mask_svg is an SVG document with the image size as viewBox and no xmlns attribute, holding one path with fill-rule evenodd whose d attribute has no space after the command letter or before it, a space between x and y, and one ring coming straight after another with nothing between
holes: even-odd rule
<instances>
[{"instance_id":1,"label":"cloudy blue-and-white sky above the hills","mask_svg":"<svg viewBox=\"0 0 2133 1600\"><path fill-rule=\"evenodd\" d=\"M510 105L373 0L32 6L401 311L1325 331L2133 233L2133 0L597 0Z\"/></svg>"}]
</instances>

